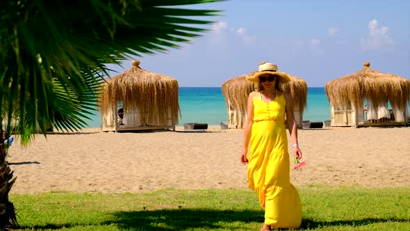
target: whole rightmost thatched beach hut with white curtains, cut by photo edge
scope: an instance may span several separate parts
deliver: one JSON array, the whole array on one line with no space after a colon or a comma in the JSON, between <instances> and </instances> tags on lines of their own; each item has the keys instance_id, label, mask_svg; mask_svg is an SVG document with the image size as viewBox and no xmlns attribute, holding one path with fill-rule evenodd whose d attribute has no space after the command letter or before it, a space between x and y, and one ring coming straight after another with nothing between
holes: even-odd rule
<instances>
[{"instance_id":1,"label":"whole rightmost thatched beach hut with white curtains, cut by photo edge","mask_svg":"<svg viewBox=\"0 0 410 231\"><path fill-rule=\"evenodd\" d=\"M408 120L409 79L372 70L368 62L359 72L327 82L325 91L332 127L405 125Z\"/></svg>"}]
</instances>

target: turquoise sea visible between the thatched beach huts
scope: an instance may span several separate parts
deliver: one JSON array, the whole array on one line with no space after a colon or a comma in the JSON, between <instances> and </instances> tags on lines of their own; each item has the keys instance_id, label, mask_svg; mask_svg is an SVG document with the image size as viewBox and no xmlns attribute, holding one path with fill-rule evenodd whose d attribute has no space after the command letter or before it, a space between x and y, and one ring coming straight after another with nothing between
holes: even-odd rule
<instances>
[{"instance_id":1,"label":"turquoise sea visible between the thatched beach huts","mask_svg":"<svg viewBox=\"0 0 410 231\"><path fill-rule=\"evenodd\" d=\"M179 107L181 118L179 125L186 122L200 122L208 125L220 125L227 122L227 108L222 88L179 88ZM303 120L324 121L330 120L330 106L327 101L325 88L308 88L307 106ZM101 126L99 111L90 116L88 127Z\"/></svg>"}]
</instances>

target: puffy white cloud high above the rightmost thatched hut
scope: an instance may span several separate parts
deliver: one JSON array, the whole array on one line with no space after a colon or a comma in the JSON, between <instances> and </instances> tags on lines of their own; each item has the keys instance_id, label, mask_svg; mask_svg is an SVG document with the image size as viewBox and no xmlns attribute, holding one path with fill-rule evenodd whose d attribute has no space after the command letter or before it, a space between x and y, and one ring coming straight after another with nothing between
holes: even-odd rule
<instances>
[{"instance_id":1,"label":"puffy white cloud high above the rightmost thatched hut","mask_svg":"<svg viewBox=\"0 0 410 231\"><path fill-rule=\"evenodd\" d=\"M379 28L377 19L369 22L368 29L366 38L361 38L361 49L377 50L394 45L393 39L388 35L388 27Z\"/></svg>"}]
</instances>

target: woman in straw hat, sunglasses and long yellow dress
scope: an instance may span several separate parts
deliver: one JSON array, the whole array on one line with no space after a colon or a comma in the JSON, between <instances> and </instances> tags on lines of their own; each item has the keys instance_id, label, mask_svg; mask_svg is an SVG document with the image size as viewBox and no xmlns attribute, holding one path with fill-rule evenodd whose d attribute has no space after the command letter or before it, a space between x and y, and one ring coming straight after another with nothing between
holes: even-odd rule
<instances>
[{"instance_id":1,"label":"woman in straw hat, sunglasses and long yellow dress","mask_svg":"<svg viewBox=\"0 0 410 231\"><path fill-rule=\"evenodd\" d=\"M259 85L249 94L245 122L244 145L240 157L249 164L249 188L254 189L265 209L261 230L299 228L302 205L295 187L290 184L290 162L285 117L292 148L299 160L302 152L297 145L297 126L293 117L293 99L283 91L290 78L278 72L277 65L261 63L259 71L247 78ZM249 156L247 156L248 145Z\"/></svg>"}]
</instances>

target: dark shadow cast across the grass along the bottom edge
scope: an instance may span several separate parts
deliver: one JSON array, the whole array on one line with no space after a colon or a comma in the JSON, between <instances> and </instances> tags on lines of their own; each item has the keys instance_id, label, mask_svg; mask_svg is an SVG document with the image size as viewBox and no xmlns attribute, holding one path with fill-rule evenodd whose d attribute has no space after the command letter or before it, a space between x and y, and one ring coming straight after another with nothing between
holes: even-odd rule
<instances>
[{"instance_id":1,"label":"dark shadow cast across the grass along the bottom edge","mask_svg":"<svg viewBox=\"0 0 410 231\"><path fill-rule=\"evenodd\" d=\"M233 210L208 210L208 209L163 209L156 211L136 211L136 212L115 212L113 219L103 223L90 224L47 224L35 225L33 227L20 227L22 229L35 230L58 230L62 228L74 228L76 226L93 225L116 225L120 230L190 230L192 228L202 228L213 230L224 228L227 230L238 230L241 223L263 223L263 211L233 211ZM304 219L300 230L362 226L372 223L386 222L409 222L404 218L363 218L358 220L341 221L313 221ZM223 226L224 227L223 227Z\"/></svg>"}]
</instances>

